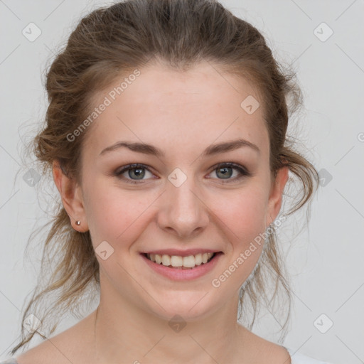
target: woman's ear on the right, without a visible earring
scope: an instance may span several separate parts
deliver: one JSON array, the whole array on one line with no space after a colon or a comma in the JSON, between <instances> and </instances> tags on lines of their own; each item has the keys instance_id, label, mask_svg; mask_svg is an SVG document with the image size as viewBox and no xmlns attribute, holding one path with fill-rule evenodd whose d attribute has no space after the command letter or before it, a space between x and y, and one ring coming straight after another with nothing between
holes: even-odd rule
<instances>
[{"instance_id":1,"label":"woman's ear on the right, without a visible earring","mask_svg":"<svg viewBox=\"0 0 364 364\"><path fill-rule=\"evenodd\" d=\"M267 212L267 220L266 225L270 225L279 213L282 205L282 195L284 186L289 178L289 167L285 166L280 168L277 171L276 178L272 181L271 191L269 193L269 201L268 201L268 212Z\"/></svg>"}]
</instances>

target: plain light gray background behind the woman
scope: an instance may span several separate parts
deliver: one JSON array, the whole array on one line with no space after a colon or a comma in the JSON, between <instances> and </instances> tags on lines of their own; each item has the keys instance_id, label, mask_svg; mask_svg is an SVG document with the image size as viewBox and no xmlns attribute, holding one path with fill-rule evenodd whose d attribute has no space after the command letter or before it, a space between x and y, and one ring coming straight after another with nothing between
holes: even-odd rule
<instances>
[{"instance_id":1,"label":"plain light gray background behind the woman","mask_svg":"<svg viewBox=\"0 0 364 364\"><path fill-rule=\"evenodd\" d=\"M309 226L298 234L304 215L297 215L279 230L294 292L284 346L334 364L364 363L364 1L221 3L262 31L279 61L296 68L305 102L297 137L323 177ZM105 4L111 3L0 0L2 359L19 336L23 302L36 284L41 259L41 245L30 262L23 260L24 248L33 229L47 221L48 204L23 179L29 166L21 161L23 143L45 112L41 77L80 17ZM31 22L41 29L33 42L22 34ZM76 322L68 317L57 333ZM274 316L262 311L259 322L253 331L277 341Z\"/></svg>"}]
</instances>

